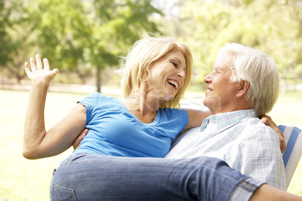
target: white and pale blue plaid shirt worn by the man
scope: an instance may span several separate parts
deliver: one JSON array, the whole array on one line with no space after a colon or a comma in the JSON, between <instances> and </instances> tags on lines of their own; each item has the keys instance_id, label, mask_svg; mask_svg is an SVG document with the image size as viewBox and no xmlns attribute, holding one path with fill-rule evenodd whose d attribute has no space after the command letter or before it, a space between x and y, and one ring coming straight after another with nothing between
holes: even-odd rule
<instances>
[{"instance_id":1,"label":"white and pale blue plaid shirt worn by the man","mask_svg":"<svg viewBox=\"0 0 302 201\"><path fill-rule=\"evenodd\" d=\"M201 127L179 135L165 157L198 156L222 159L242 174L286 190L279 137L254 110L211 115Z\"/></svg>"}]
</instances>

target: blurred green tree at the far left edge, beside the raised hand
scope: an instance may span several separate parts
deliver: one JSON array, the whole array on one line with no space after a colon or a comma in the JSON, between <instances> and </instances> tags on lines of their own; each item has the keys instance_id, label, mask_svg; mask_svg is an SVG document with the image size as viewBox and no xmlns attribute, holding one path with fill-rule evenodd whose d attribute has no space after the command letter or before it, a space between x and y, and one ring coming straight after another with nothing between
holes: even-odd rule
<instances>
[{"instance_id":1,"label":"blurred green tree at the far left edge, beside the raised hand","mask_svg":"<svg viewBox=\"0 0 302 201\"><path fill-rule=\"evenodd\" d=\"M20 82L25 76L23 65L26 54L33 48L27 34L30 32L30 21L21 0L2 1L0 13L0 65Z\"/></svg>"}]
</instances>

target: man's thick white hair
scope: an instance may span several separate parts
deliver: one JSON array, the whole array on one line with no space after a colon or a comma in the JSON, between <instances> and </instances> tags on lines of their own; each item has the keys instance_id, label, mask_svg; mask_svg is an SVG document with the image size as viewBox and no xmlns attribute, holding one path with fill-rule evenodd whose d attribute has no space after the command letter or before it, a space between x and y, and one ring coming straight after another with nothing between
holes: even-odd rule
<instances>
[{"instance_id":1,"label":"man's thick white hair","mask_svg":"<svg viewBox=\"0 0 302 201\"><path fill-rule=\"evenodd\" d=\"M224 53L233 56L231 82L249 81L245 94L251 100L256 114L261 116L270 112L277 102L280 90L278 66L268 55L237 43L226 43L219 49L216 62Z\"/></svg>"}]
</instances>

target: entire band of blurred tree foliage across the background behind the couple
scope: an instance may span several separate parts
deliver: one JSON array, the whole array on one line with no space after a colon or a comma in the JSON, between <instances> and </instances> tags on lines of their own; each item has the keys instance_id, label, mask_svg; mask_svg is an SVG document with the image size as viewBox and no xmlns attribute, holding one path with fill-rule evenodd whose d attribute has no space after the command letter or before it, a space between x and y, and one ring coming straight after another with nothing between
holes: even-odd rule
<instances>
[{"instance_id":1,"label":"entire band of blurred tree foliage across the background behind the couple","mask_svg":"<svg viewBox=\"0 0 302 201\"><path fill-rule=\"evenodd\" d=\"M301 0L13 0L0 2L0 14L0 65L18 80L37 52L61 72L84 80L98 69L102 80L102 69L158 27L192 50L193 83L211 71L226 42L267 53L288 82L302 78Z\"/></svg>"}]
</instances>

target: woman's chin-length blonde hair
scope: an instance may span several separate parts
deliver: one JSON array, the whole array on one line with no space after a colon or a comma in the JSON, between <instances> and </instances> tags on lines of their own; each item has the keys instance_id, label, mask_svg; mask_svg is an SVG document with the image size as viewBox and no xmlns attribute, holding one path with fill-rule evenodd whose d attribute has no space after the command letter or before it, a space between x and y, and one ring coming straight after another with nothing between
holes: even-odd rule
<instances>
[{"instance_id":1,"label":"woman's chin-length blonde hair","mask_svg":"<svg viewBox=\"0 0 302 201\"><path fill-rule=\"evenodd\" d=\"M180 50L185 57L186 79L174 98L167 100L160 107L179 108L180 99L183 97L191 80L193 58L191 51L186 45L177 43L174 38L167 36L157 38L148 34L136 41L130 48L128 55L123 58L118 73L122 75L120 83L123 87L124 98L128 98L139 90L141 78L153 62L175 49Z\"/></svg>"}]
</instances>

